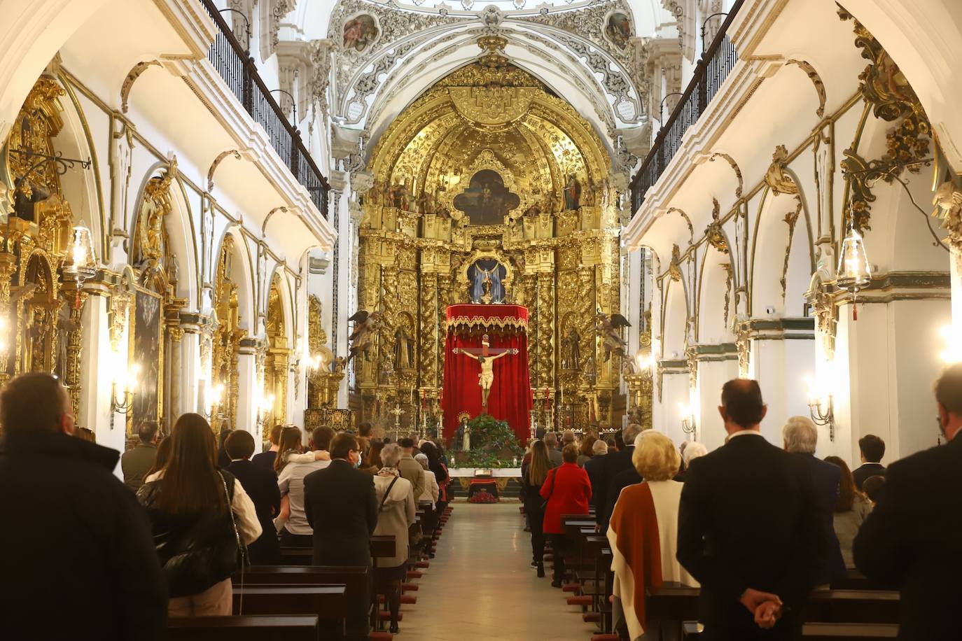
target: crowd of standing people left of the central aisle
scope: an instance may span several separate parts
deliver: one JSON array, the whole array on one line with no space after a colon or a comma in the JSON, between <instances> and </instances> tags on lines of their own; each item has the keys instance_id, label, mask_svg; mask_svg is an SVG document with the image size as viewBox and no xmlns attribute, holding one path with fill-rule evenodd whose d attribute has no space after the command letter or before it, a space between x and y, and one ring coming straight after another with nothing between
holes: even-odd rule
<instances>
[{"instance_id":1,"label":"crowd of standing people left of the central aisle","mask_svg":"<svg viewBox=\"0 0 962 641\"><path fill-rule=\"evenodd\" d=\"M255 455L248 431L217 439L187 413L160 440L156 423L142 424L120 456L73 421L53 376L23 374L0 391L4 638L164 638L168 616L231 614L231 578L280 563L281 546L311 548L316 565L370 567L372 535L394 536L396 555L378 557L372 576L398 630L416 506L447 502L440 444L373 439L367 424L276 426ZM367 603L353 605L348 617L366 621Z\"/></svg>"}]
</instances>

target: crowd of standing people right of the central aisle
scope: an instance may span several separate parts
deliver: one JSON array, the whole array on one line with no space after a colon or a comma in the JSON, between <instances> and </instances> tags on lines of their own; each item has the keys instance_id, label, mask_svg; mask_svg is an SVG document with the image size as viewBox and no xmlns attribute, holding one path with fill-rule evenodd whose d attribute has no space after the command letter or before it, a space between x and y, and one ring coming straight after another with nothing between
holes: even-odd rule
<instances>
[{"instance_id":1,"label":"crowd of standing people right of the central aisle","mask_svg":"<svg viewBox=\"0 0 962 641\"><path fill-rule=\"evenodd\" d=\"M532 566L552 585L565 577L562 515L590 513L611 544L621 638L677 638L677 624L646 617L646 589L673 581L700 587L700 638L799 639L814 589L852 571L901 591L899 639L958 635L962 597L962 364L934 386L946 441L881 464L884 441L859 439L861 464L815 456L818 430L789 417L782 442L760 431L768 407L758 382L722 387L725 444L676 447L630 424L612 442L573 432L531 443L521 471ZM617 442L620 441L620 442ZM545 538L546 537L546 538Z\"/></svg>"}]
</instances>

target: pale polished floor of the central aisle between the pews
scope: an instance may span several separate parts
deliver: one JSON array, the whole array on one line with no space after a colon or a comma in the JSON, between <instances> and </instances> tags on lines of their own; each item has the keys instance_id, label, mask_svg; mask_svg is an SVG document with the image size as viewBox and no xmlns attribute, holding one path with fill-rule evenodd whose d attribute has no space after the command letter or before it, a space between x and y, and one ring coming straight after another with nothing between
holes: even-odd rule
<instances>
[{"instance_id":1,"label":"pale polished floor of the central aisle between the pews","mask_svg":"<svg viewBox=\"0 0 962 641\"><path fill-rule=\"evenodd\" d=\"M454 504L438 554L418 579L418 604L404 605L402 639L425 641L588 641L593 624L538 579L519 503Z\"/></svg>"}]
</instances>

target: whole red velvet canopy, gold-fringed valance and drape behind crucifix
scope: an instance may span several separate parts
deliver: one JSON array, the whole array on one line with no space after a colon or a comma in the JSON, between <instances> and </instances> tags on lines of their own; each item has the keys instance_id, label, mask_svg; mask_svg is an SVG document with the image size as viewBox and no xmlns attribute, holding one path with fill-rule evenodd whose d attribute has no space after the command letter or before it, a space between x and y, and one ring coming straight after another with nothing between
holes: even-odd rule
<instances>
[{"instance_id":1,"label":"whole red velvet canopy, gold-fringed valance and drape behind crucifix","mask_svg":"<svg viewBox=\"0 0 962 641\"><path fill-rule=\"evenodd\" d=\"M528 411L531 384L528 381L528 309L519 305L452 305L447 308L447 338L444 343L445 438L458 428L458 416L471 418L481 413L481 364L454 348L481 349L481 337L488 334L492 350L519 350L494 361L494 383L488 397L488 412L507 421L521 443L528 439Z\"/></svg>"}]
</instances>

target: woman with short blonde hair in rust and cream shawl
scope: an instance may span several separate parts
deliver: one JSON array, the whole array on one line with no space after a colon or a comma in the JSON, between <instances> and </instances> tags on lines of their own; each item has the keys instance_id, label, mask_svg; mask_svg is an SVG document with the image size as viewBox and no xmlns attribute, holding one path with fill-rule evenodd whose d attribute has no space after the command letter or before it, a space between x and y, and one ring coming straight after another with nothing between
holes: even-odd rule
<instances>
[{"instance_id":1,"label":"woman with short blonde hair in rust and cream shawl","mask_svg":"<svg viewBox=\"0 0 962 641\"><path fill-rule=\"evenodd\" d=\"M675 558L682 484L672 478L681 457L671 438L649 430L635 439L631 462L645 481L621 490L608 524L616 613L631 639L673 641L677 630L668 622L646 620L645 593L664 581L698 585Z\"/></svg>"}]
</instances>

